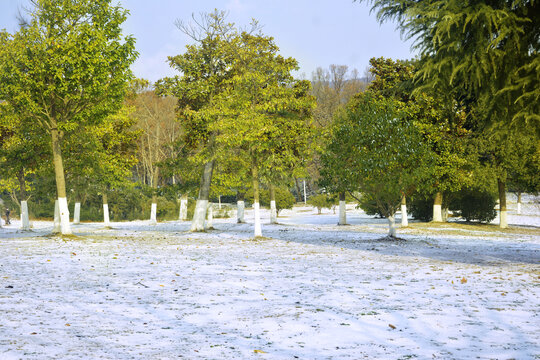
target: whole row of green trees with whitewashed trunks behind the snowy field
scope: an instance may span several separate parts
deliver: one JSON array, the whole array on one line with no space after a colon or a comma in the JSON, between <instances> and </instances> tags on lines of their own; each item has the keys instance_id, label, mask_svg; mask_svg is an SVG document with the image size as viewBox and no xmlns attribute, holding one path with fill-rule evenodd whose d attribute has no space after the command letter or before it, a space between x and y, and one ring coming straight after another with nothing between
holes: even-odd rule
<instances>
[{"instance_id":1,"label":"whole row of green trees with whitewashed trunks behind the snowy field","mask_svg":"<svg viewBox=\"0 0 540 360\"><path fill-rule=\"evenodd\" d=\"M340 204L340 223L354 200L388 218L391 236L407 205L423 220L450 209L491 221L497 197L505 227L506 191L540 184L538 44L526 32L538 29L538 3L396 4L373 2L417 37L416 60L373 58L363 77L331 65L299 80L297 61L256 22L241 29L215 11L177 23L192 44L168 59L177 76L150 84L130 71L125 10L37 0L19 31L0 33L4 195L21 209L31 199L36 217L56 199L62 233L75 203L83 220L192 217L200 231L222 195L238 201L239 222L253 204L260 236L260 204L275 222L304 182L315 206Z\"/></svg>"}]
</instances>

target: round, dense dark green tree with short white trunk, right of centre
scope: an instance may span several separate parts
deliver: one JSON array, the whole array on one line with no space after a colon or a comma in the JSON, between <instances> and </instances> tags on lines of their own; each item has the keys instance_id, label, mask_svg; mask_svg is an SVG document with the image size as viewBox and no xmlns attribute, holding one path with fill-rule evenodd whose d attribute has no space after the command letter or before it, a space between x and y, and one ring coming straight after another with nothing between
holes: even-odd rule
<instances>
[{"instance_id":1,"label":"round, dense dark green tree with short white trunk, right of centre","mask_svg":"<svg viewBox=\"0 0 540 360\"><path fill-rule=\"evenodd\" d=\"M370 92L355 96L333 127L322 160L325 173L339 173L349 189L367 194L388 218L395 238L394 214L402 195L425 177L431 154L399 102ZM359 200L359 199L357 199Z\"/></svg>"}]
</instances>

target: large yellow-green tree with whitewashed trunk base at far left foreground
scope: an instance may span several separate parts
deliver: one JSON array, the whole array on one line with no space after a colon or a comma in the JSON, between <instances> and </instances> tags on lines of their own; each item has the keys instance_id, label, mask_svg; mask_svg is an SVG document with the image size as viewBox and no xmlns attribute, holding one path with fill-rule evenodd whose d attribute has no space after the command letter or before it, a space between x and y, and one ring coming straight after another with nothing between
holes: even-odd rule
<instances>
[{"instance_id":1,"label":"large yellow-green tree with whitewashed trunk base at far left foreground","mask_svg":"<svg viewBox=\"0 0 540 360\"><path fill-rule=\"evenodd\" d=\"M28 26L0 36L0 98L50 136L61 231L71 233L62 141L122 105L136 58L111 0L34 0Z\"/></svg>"}]
</instances>

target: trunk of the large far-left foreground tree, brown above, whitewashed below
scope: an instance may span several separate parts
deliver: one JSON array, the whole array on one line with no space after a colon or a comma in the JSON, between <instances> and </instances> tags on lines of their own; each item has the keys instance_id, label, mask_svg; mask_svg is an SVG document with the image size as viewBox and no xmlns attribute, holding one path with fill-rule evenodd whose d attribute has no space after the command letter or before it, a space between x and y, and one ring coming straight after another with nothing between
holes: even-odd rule
<instances>
[{"instance_id":1,"label":"trunk of the large far-left foreground tree, brown above, whitewashed below","mask_svg":"<svg viewBox=\"0 0 540 360\"><path fill-rule=\"evenodd\" d=\"M60 133L57 128L51 129L51 142L53 150L54 174L56 178L56 192L58 194L58 210L60 214L60 231L63 235L71 234L69 224L69 209L66 198L66 181L64 177L64 163L60 144Z\"/></svg>"}]
</instances>

